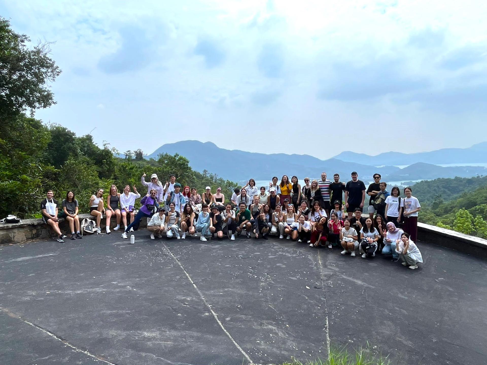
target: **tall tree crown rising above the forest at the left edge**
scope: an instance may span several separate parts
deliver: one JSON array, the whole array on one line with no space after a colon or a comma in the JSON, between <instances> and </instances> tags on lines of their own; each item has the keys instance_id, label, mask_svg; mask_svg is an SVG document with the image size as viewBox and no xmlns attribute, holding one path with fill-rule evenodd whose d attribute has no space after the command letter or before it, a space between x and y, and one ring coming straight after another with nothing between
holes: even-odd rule
<instances>
[{"instance_id":1,"label":"tall tree crown rising above the forest at the left edge","mask_svg":"<svg viewBox=\"0 0 487 365\"><path fill-rule=\"evenodd\" d=\"M0 120L30 109L47 108L56 102L48 82L61 73L48 56L49 43L29 49L30 39L0 18Z\"/></svg>"}]
</instances>

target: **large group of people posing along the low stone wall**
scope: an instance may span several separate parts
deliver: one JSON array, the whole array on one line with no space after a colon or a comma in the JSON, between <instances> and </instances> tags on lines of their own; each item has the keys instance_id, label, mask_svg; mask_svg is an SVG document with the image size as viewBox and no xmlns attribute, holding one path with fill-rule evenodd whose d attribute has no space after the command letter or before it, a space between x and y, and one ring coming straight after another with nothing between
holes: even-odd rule
<instances>
[{"instance_id":1,"label":"large group of people posing along the low stone wall","mask_svg":"<svg viewBox=\"0 0 487 365\"><path fill-rule=\"evenodd\" d=\"M342 255L372 258L377 254L391 256L393 261L416 269L423 262L415 242L417 240L417 217L421 209L419 201L412 196L412 188L393 186L387 191L387 183L381 182L380 174L374 174L374 182L368 188L358 180L354 171L351 180L334 181L321 174L321 180L304 179L301 186L297 176L290 180L287 175L281 181L274 176L269 186L257 187L254 179L241 188L235 188L230 200L219 187L215 193L206 186L202 195L196 188L182 187L171 175L164 185L156 174L150 182L142 175L141 183L147 194L135 209L135 201L141 195L135 186L126 185L122 193L112 185L104 197L98 189L91 196L90 214L96 222L96 231L101 233L101 221L105 217L105 233L110 234L111 220L116 220L114 231L121 229L122 238L137 230L140 220L147 218L150 238L186 239L199 236L200 240L236 237L268 239L279 237L308 244L310 247L337 247ZM368 215L363 213L366 196L369 196ZM61 202L62 214L69 223L71 239L82 238L78 217L78 202L73 191ZM58 202L53 192L47 192L41 204L42 218L58 235L63 235L58 225Z\"/></svg>"}]
</instances>

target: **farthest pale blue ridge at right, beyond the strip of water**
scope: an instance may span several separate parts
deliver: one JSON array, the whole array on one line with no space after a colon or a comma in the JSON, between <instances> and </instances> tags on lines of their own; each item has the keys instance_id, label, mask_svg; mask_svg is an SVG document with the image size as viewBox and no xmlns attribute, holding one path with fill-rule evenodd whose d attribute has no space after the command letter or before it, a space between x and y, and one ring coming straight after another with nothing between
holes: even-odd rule
<instances>
[{"instance_id":1,"label":"farthest pale blue ridge at right, beyond the strip of water","mask_svg":"<svg viewBox=\"0 0 487 365\"><path fill-rule=\"evenodd\" d=\"M384 152L375 156L344 151L334 158L372 166L407 165L417 162L427 164L487 163L487 142L468 148L443 148L419 153Z\"/></svg>"}]
</instances>

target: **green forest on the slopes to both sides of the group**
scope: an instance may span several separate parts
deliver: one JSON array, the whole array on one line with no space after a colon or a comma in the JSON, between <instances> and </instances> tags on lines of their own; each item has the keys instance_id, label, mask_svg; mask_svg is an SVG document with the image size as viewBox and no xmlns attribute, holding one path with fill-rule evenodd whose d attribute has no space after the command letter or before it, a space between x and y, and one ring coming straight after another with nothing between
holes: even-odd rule
<instances>
[{"instance_id":1,"label":"green forest on the slopes to both sides of the group","mask_svg":"<svg viewBox=\"0 0 487 365\"><path fill-rule=\"evenodd\" d=\"M28 47L29 38L15 33L0 18L0 217L39 217L40 201L47 189L57 199L75 192L81 213L98 188L109 191L136 185L141 193L143 173L156 173L162 182L170 174L183 186L200 192L209 185L231 194L237 183L207 171L194 171L178 154L144 159L140 149L119 151L109 142L97 146L89 134L76 136L65 127L46 125L33 116L35 110L56 104L49 85L61 70L49 57L49 44ZM422 209L419 221L487 238L487 177L436 179L412 186ZM229 196L228 196L229 198Z\"/></svg>"}]
</instances>

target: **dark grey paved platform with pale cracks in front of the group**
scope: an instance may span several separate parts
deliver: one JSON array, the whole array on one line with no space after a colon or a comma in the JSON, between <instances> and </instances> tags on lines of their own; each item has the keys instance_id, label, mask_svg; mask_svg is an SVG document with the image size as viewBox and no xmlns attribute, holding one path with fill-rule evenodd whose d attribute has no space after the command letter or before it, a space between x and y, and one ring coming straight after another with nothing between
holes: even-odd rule
<instances>
[{"instance_id":1,"label":"dark grey paved platform with pale cracks in front of the group","mask_svg":"<svg viewBox=\"0 0 487 365\"><path fill-rule=\"evenodd\" d=\"M0 364L279 364L366 346L394 364L487 363L487 261L425 264L288 240L113 232L0 246Z\"/></svg>"}]
</instances>

